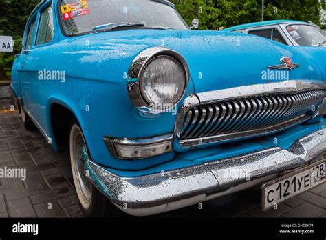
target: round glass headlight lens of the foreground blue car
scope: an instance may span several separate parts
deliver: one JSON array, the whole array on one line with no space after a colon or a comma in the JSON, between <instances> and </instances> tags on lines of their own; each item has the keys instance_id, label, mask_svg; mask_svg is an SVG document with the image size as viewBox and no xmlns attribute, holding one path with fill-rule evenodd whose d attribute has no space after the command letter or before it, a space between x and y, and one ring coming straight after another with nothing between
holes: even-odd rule
<instances>
[{"instance_id":1,"label":"round glass headlight lens of the foreground blue car","mask_svg":"<svg viewBox=\"0 0 326 240\"><path fill-rule=\"evenodd\" d=\"M155 57L142 72L140 88L149 105L175 104L186 88L184 69L173 57Z\"/></svg>"}]
</instances>

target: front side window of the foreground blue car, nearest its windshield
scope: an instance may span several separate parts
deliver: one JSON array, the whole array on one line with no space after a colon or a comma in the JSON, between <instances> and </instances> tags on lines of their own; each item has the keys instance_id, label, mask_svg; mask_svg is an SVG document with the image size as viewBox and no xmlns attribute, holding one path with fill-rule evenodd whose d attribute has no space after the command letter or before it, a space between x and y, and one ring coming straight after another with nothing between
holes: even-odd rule
<instances>
[{"instance_id":1,"label":"front side window of the foreground blue car, nearest its windshield","mask_svg":"<svg viewBox=\"0 0 326 240\"><path fill-rule=\"evenodd\" d=\"M39 31L37 33L36 45L48 43L54 34L52 6L45 8L41 14Z\"/></svg>"}]
</instances>

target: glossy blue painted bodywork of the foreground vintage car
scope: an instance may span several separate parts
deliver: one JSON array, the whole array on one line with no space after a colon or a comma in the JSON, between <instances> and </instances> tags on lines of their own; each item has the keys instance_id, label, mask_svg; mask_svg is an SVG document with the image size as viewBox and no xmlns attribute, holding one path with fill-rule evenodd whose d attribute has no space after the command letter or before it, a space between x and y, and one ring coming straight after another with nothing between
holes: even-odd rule
<instances>
[{"instance_id":1,"label":"glossy blue painted bodywork of the foreground vintage car","mask_svg":"<svg viewBox=\"0 0 326 240\"><path fill-rule=\"evenodd\" d=\"M12 68L12 88L52 139L54 149L58 146L51 109L59 104L78 119L91 159L102 166L124 170L124 174L138 174L126 171L144 169L149 170L139 174L160 172L270 146L268 142L253 140L246 148L239 146L240 143L231 143L184 153L175 143L174 152L149 159L125 161L111 157L102 140L105 136L145 138L174 131L175 115L163 113L146 117L128 97L126 73L133 59L146 48L162 46L164 42L164 47L179 52L186 59L191 81L184 98L191 92L265 83L262 71L279 64L283 56L292 57L292 61L301 65L290 72L290 80L326 81L325 67L318 66L321 60L311 59L312 52L308 54L309 51L250 35L193 30L121 30L65 37L58 26L56 3L57 0L52 0L54 39L42 46L32 46L30 53L17 57ZM34 17L38 21L39 12L49 4L50 1L43 1L32 13L27 26ZM35 34L36 31L34 37ZM65 71L65 81L39 80L39 71L43 70ZM177 110L181 104L182 101ZM283 144L290 146L296 135L312 132L323 124L304 129L298 126L277 136L283 136L286 139Z\"/></svg>"}]
</instances>

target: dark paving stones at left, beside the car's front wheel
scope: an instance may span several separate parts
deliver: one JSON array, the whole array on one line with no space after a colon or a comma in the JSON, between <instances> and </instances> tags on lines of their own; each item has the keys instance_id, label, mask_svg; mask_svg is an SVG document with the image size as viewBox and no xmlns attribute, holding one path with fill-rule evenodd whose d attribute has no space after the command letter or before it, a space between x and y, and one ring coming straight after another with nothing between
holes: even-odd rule
<instances>
[{"instance_id":1,"label":"dark paving stones at left, beside the car's front wheel","mask_svg":"<svg viewBox=\"0 0 326 240\"><path fill-rule=\"evenodd\" d=\"M0 113L0 168L26 169L25 181L0 179L0 217L83 217L67 159L17 112Z\"/></svg>"}]
</instances>

